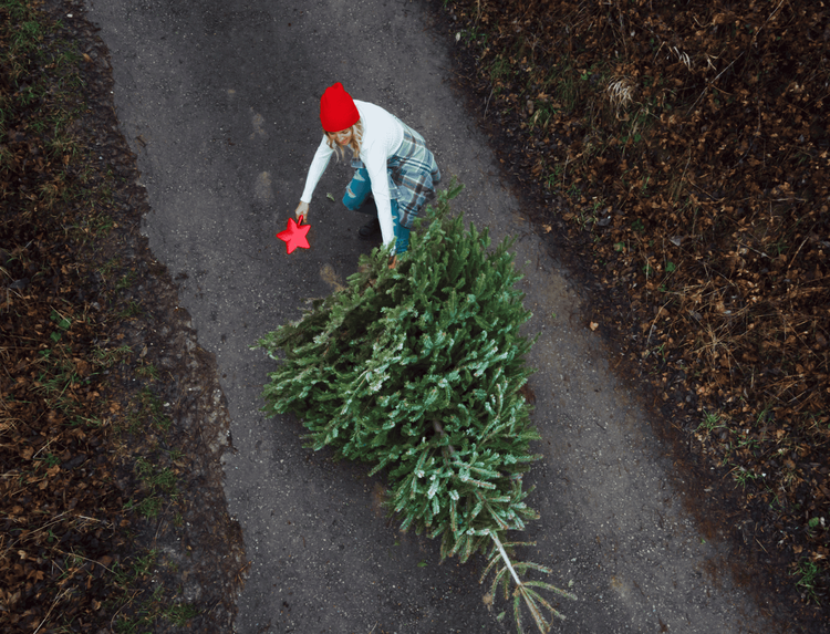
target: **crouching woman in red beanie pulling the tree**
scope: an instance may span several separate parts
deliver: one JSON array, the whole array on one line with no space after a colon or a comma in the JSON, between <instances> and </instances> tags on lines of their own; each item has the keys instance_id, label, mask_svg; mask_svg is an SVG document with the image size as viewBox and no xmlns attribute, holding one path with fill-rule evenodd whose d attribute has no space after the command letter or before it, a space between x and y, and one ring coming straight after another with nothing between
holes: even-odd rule
<instances>
[{"instance_id":1,"label":"crouching woman in red beanie pulling the tree","mask_svg":"<svg viewBox=\"0 0 830 634\"><path fill-rule=\"evenodd\" d=\"M409 246L409 229L421 208L435 196L440 172L424 137L396 116L374 104L355 101L338 82L320 100L323 139L311 162L305 189L295 215L309 218L309 202L320 177L335 150L353 153L354 177L343 196L343 205L354 211L374 197L376 218L362 227L360 236L371 238L378 231L383 243L394 241L393 253ZM374 208L365 209L374 212Z\"/></svg>"}]
</instances>

